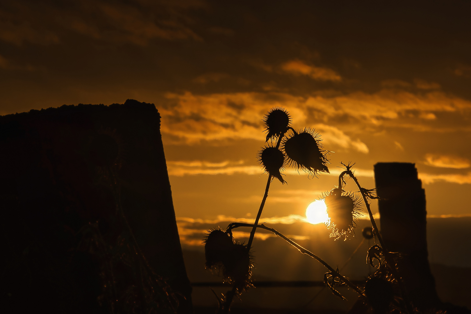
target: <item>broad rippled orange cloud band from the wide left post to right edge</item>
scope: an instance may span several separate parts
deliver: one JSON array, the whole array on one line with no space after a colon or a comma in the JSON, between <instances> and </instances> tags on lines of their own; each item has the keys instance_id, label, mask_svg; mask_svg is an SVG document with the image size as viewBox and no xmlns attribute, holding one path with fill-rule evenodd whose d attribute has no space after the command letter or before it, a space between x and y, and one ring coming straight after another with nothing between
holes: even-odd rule
<instances>
[{"instance_id":1,"label":"broad rippled orange cloud band from the wide left post to right edge","mask_svg":"<svg viewBox=\"0 0 471 314\"><path fill-rule=\"evenodd\" d=\"M436 121L438 112L462 113L471 110L471 102L441 91L414 94L404 90L382 89L368 94L353 92L340 96L294 96L280 92L239 92L208 95L167 93L170 104L159 108L162 114L162 133L170 134L185 143L201 140L255 139L263 141L262 117L272 107L286 108L292 115L294 127L316 128L324 138L327 149L342 147L368 153L360 139L351 138L340 126L326 123L306 123L309 112L315 111L329 121L338 116L355 119L356 125L412 129L414 131L470 131L471 127ZM346 126L352 128L351 126ZM358 132L356 128L351 129Z\"/></svg>"}]
</instances>

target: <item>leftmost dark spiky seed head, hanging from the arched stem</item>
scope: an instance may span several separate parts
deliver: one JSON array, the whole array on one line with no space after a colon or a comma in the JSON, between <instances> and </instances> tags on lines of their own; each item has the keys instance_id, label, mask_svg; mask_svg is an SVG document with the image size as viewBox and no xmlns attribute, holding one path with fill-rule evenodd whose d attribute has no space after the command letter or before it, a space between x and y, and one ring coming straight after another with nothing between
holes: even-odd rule
<instances>
[{"instance_id":1,"label":"leftmost dark spiky seed head, hanging from the arched stem","mask_svg":"<svg viewBox=\"0 0 471 314\"><path fill-rule=\"evenodd\" d=\"M227 259L231 258L234 240L229 233L219 228L210 230L203 243L207 268L223 266Z\"/></svg>"}]
</instances>

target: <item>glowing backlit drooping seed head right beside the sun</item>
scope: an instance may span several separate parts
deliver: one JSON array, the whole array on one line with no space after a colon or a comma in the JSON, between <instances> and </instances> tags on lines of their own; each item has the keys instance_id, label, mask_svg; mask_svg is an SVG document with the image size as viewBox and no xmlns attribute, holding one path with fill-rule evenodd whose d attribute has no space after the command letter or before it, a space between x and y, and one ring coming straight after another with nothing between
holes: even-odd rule
<instances>
[{"instance_id":1,"label":"glowing backlit drooping seed head right beside the sun","mask_svg":"<svg viewBox=\"0 0 471 314\"><path fill-rule=\"evenodd\" d=\"M354 219L361 211L361 201L353 193L347 193L341 188L333 189L324 199L329 221L326 224L331 230L330 236L335 240L344 237L345 240L353 233L356 225Z\"/></svg>"}]
</instances>

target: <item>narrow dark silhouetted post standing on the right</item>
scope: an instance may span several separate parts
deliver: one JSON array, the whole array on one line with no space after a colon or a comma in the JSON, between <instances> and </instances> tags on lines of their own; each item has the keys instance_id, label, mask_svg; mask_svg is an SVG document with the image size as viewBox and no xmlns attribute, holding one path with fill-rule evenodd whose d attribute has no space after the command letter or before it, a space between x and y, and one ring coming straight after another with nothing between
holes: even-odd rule
<instances>
[{"instance_id":1,"label":"narrow dark silhouetted post standing on the right","mask_svg":"<svg viewBox=\"0 0 471 314\"><path fill-rule=\"evenodd\" d=\"M425 190L415 164L379 162L374 178L382 238L388 250L403 255L398 270L408 297L421 310L436 307L440 301L428 261Z\"/></svg>"}]
</instances>

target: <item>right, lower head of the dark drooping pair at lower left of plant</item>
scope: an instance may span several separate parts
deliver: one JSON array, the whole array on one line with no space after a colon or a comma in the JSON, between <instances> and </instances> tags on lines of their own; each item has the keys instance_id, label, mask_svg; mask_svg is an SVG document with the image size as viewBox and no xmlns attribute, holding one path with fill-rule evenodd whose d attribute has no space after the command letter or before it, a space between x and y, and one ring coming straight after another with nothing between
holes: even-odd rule
<instances>
[{"instance_id":1,"label":"right, lower head of the dark drooping pair at lower left of plant","mask_svg":"<svg viewBox=\"0 0 471 314\"><path fill-rule=\"evenodd\" d=\"M244 244L234 244L230 251L230 258L224 261L224 276L229 282L235 283L237 289L244 290L250 282L252 275L252 257Z\"/></svg>"}]
</instances>

